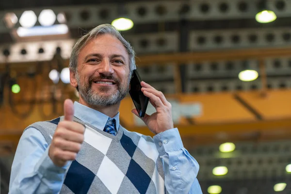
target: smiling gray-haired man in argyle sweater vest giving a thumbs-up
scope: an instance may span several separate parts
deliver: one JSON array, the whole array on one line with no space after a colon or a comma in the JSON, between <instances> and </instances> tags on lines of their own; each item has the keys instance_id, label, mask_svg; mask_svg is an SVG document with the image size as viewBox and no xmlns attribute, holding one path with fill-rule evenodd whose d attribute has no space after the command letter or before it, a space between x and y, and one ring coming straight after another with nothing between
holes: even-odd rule
<instances>
[{"instance_id":1,"label":"smiling gray-haired man in argyle sweater vest giving a thumbs-up","mask_svg":"<svg viewBox=\"0 0 291 194\"><path fill-rule=\"evenodd\" d=\"M161 92L142 82L157 111L142 118L153 139L120 126L120 101L136 66L133 49L113 26L81 37L69 67L80 101L65 100L64 116L24 130L11 194L202 194L199 165L183 147Z\"/></svg>"}]
</instances>

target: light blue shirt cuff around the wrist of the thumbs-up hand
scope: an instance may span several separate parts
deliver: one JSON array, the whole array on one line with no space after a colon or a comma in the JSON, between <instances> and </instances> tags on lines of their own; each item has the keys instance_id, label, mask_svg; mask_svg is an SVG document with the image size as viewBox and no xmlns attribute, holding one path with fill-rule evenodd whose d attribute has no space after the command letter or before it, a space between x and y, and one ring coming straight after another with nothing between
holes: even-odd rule
<instances>
[{"instance_id":1,"label":"light blue shirt cuff around the wrist of the thumbs-up hand","mask_svg":"<svg viewBox=\"0 0 291 194\"><path fill-rule=\"evenodd\" d=\"M56 166L52 160L49 158L49 147L46 149L38 163L35 165L36 172L39 173L41 177L45 178L55 178L58 175L65 174L67 167L70 162L67 162L65 166Z\"/></svg>"}]
</instances>

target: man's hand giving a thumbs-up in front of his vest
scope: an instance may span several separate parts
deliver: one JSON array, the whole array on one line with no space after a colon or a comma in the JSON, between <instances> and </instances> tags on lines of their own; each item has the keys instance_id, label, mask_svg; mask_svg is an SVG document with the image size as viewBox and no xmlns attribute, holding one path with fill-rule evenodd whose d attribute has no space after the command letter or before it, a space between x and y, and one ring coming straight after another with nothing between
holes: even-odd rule
<instances>
[{"instance_id":1,"label":"man's hand giving a thumbs-up in front of his vest","mask_svg":"<svg viewBox=\"0 0 291 194\"><path fill-rule=\"evenodd\" d=\"M56 166L64 166L67 161L75 160L84 141L85 128L73 121L74 105L72 100L64 102L65 119L61 121L53 135L49 157Z\"/></svg>"}]
</instances>

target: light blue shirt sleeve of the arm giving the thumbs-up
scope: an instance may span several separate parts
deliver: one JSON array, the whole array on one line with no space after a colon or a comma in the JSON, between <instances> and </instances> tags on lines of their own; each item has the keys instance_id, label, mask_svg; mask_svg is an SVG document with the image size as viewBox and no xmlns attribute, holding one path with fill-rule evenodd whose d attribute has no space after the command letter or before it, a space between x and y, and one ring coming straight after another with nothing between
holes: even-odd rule
<instances>
[{"instance_id":1,"label":"light blue shirt sleeve of the arm giving the thumbs-up","mask_svg":"<svg viewBox=\"0 0 291 194\"><path fill-rule=\"evenodd\" d=\"M42 133L29 128L22 134L16 149L9 194L57 194L62 188L67 165L54 165Z\"/></svg>"}]
</instances>

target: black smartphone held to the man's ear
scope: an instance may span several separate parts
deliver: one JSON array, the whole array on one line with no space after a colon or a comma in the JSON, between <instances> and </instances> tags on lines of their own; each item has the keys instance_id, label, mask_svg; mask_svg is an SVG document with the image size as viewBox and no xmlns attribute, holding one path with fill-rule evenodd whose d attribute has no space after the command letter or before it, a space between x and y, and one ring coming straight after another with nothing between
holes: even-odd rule
<instances>
[{"instance_id":1,"label":"black smartphone held to the man's ear","mask_svg":"<svg viewBox=\"0 0 291 194\"><path fill-rule=\"evenodd\" d=\"M137 70L133 70L131 80L130 80L130 90L129 94L133 101L135 108L140 117L144 117L146 114L146 108L148 104L149 98L144 95L141 91L141 78L137 72Z\"/></svg>"}]
</instances>

